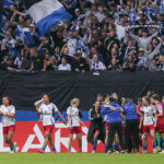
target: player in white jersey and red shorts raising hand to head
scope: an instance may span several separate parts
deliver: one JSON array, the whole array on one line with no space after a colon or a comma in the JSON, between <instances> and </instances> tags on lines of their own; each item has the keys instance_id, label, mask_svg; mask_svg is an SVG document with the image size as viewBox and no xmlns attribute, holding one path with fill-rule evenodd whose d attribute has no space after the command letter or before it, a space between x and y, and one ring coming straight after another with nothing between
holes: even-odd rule
<instances>
[{"instance_id":1,"label":"player in white jersey and red shorts raising hand to head","mask_svg":"<svg viewBox=\"0 0 164 164\"><path fill-rule=\"evenodd\" d=\"M56 153L55 142L51 138L51 132L55 127L55 119L54 113L56 112L58 116L62 119L63 124L67 124L60 112L58 110L57 106L49 101L49 96L44 94L42 99L35 103L36 112L39 115L40 120L43 121L44 132L45 132L45 142L43 149L40 149L39 153L45 153L46 147L48 142L51 145L51 153Z\"/></svg>"}]
</instances>

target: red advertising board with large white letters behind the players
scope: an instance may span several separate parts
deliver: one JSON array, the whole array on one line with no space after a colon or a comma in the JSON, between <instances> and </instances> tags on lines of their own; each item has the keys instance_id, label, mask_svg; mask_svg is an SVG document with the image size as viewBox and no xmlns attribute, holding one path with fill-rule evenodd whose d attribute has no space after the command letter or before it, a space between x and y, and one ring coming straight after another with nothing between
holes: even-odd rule
<instances>
[{"instance_id":1,"label":"red advertising board with large white letters behind the players","mask_svg":"<svg viewBox=\"0 0 164 164\"><path fill-rule=\"evenodd\" d=\"M83 152L92 152L92 144L86 141L87 130L90 122L84 122L86 127L82 127L82 151ZM52 131L52 139L55 140L57 152L68 152L68 132L67 127L58 121L55 125L55 130ZM38 121L17 121L16 130L13 137L13 141L16 143L17 152L37 152L42 149L44 143L44 132L42 122ZM152 152L151 141L149 139L149 152ZM0 122L0 152L9 152L10 149L3 142L2 136L2 124ZM50 152L50 145L47 147L46 152ZM72 152L78 152L78 140L74 136ZM97 152L104 152L104 144L98 142Z\"/></svg>"}]
</instances>

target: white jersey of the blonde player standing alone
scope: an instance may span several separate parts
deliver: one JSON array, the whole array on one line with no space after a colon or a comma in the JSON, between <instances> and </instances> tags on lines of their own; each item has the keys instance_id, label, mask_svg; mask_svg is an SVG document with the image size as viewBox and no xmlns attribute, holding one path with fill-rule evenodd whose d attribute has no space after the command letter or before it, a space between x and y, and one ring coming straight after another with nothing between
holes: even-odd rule
<instances>
[{"instance_id":1,"label":"white jersey of the blonde player standing alone","mask_svg":"<svg viewBox=\"0 0 164 164\"><path fill-rule=\"evenodd\" d=\"M80 126L79 108L78 107L68 107L67 115L70 115L71 127ZM69 126L69 124L68 124Z\"/></svg>"}]
</instances>

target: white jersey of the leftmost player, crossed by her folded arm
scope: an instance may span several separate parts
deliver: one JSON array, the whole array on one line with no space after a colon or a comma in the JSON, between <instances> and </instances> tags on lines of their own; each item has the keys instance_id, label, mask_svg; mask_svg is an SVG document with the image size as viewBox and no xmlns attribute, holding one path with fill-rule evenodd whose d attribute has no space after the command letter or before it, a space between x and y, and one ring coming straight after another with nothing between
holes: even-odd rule
<instances>
[{"instance_id":1,"label":"white jersey of the leftmost player, crossed by her folded arm","mask_svg":"<svg viewBox=\"0 0 164 164\"><path fill-rule=\"evenodd\" d=\"M8 107L1 105L0 109L2 109L2 112L5 112L7 114L15 114L15 107L13 105L10 105ZM9 127L11 125L15 125L15 119L8 116L2 116L2 126Z\"/></svg>"}]
</instances>

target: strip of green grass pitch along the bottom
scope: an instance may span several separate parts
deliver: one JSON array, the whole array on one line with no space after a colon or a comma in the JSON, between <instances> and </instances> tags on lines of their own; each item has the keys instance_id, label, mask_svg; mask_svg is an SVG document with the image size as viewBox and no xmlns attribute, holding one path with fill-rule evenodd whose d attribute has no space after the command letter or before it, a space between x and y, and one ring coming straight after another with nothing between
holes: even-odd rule
<instances>
[{"instance_id":1,"label":"strip of green grass pitch along the bottom","mask_svg":"<svg viewBox=\"0 0 164 164\"><path fill-rule=\"evenodd\" d=\"M0 164L164 164L164 155L0 153Z\"/></svg>"}]
</instances>

